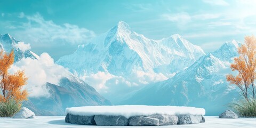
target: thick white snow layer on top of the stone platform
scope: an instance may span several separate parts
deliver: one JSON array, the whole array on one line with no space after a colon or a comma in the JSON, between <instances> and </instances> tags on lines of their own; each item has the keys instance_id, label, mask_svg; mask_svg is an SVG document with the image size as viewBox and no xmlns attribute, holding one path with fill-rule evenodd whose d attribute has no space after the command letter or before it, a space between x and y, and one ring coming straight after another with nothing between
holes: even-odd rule
<instances>
[{"instance_id":1,"label":"thick white snow layer on top of the stone platform","mask_svg":"<svg viewBox=\"0 0 256 128\"><path fill-rule=\"evenodd\" d=\"M124 105L124 106L85 106L66 108L66 115L122 115L126 118L131 116L146 116L153 114L167 115L205 115L203 108L183 107L183 106L144 106L144 105Z\"/></svg>"}]
</instances>

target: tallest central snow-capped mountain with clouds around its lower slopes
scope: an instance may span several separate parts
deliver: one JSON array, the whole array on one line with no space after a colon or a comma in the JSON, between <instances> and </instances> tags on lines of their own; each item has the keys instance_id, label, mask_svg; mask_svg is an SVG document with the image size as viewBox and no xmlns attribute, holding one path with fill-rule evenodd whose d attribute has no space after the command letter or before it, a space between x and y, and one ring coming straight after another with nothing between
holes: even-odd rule
<instances>
[{"instance_id":1,"label":"tallest central snow-capped mountain with clouds around its lower slopes","mask_svg":"<svg viewBox=\"0 0 256 128\"><path fill-rule=\"evenodd\" d=\"M172 77L204 54L201 47L178 34L160 40L148 39L119 21L56 63L116 103L132 90Z\"/></svg>"}]
</instances>

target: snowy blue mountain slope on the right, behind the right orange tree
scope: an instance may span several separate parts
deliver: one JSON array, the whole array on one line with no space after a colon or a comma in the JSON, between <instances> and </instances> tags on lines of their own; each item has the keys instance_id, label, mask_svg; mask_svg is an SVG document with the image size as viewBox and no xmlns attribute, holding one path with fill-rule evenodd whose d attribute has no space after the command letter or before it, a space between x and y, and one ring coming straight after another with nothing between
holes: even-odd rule
<instances>
[{"instance_id":1,"label":"snowy blue mountain slope on the right, behind the right orange tree","mask_svg":"<svg viewBox=\"0 0 256 128\"><path fill-rule=\"evenodd\" d=\"M174 77L131 93L120 104L195 106L204 108L206 115L216 116L239 95L235 86L226 82L239 45L236 41L227 42Z\"/></svg>"}]
</instances>

